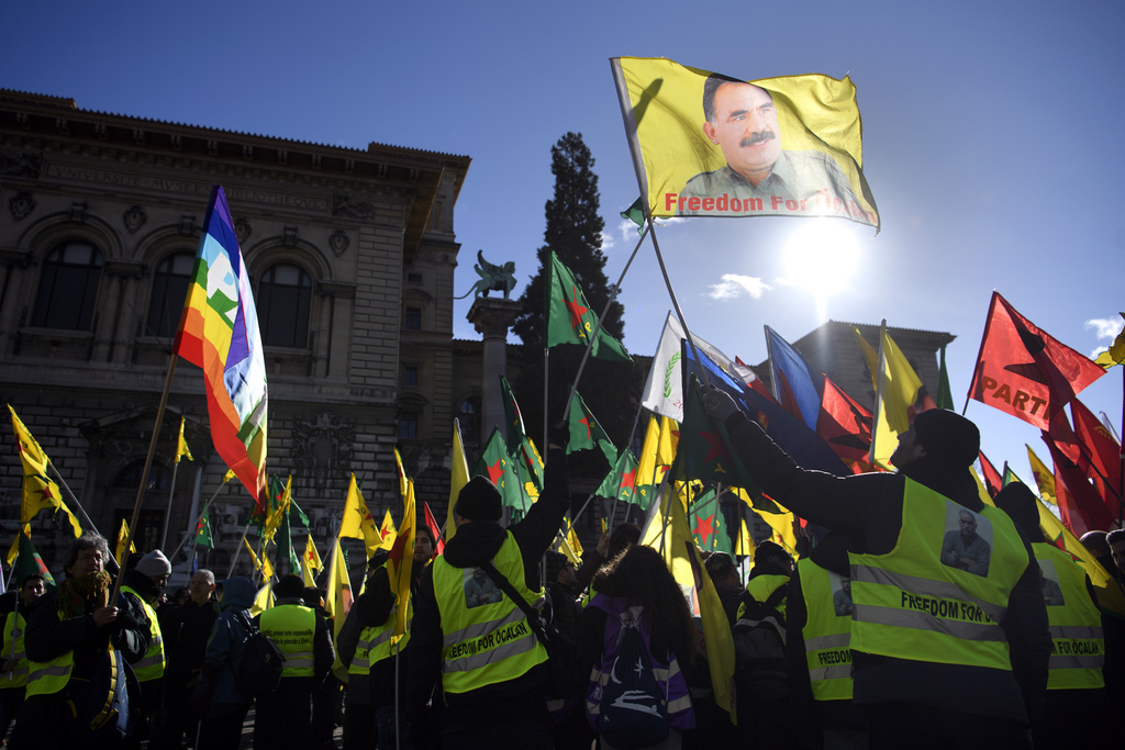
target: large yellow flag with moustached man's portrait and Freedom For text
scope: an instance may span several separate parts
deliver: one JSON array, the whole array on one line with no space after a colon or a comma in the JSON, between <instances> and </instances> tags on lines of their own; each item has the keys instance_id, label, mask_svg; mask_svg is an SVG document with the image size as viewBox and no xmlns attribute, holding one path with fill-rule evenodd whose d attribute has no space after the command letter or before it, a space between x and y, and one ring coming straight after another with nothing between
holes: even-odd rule
<instances>
[{"instance_id":1,"label":"large yellow flag with moustached man's portrait and Freedom For text","mask_svg":"<svg viewBox=\"0 0 1125 750\"><path fill-rule=\"evenodd\" d=\"M664 57L610 64L648 216L836 216L879 227L847 76L746 82L727 71L735 79L714 85L709 71ZM753 156L748 127L771 136ZM782 175L784 190L771 187Z\"/></svg>"}]
</instances>

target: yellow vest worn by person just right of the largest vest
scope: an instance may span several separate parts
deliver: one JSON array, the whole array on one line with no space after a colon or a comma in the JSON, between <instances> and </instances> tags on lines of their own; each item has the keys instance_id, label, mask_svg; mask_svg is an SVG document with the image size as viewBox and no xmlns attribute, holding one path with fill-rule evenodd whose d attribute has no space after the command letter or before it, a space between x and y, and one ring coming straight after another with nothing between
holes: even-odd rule
<instances>
[{"instance_id":1,"label":"yellow vest worn by person just right of the largest vest","mask_svg":"<svg viewBox=\"0 0 1125 750\"><path fill-rule=\"evenodd\" d=\"M1053 544L1032 544L1035 561L1046 581L1059 584L1062 602L1052 600L1044 590L1047 624L1051 626L1048 690L1095 689L1105 687L1101 667L1106 661L1106 641L1101 613L1086 589L1086 571L1066 552Z\"/></svg>"}]
</instances>

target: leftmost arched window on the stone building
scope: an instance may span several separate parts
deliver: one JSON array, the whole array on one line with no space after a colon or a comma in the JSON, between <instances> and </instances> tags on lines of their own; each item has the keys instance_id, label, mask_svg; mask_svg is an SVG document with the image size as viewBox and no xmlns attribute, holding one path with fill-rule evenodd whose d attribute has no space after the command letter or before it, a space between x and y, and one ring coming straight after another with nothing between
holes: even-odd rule
<instances>
[{"instance_id":1,"label":"leftmost arched window on the stone building","mask_svg":"<svg viewBox=\"0 0 1125 750\"><path fill-rule=\"evenodd\" d=\"M88 242L55 247L43 262L32 325L89 331L101 277L101 253Z\"/></svg>"}]
</instances>

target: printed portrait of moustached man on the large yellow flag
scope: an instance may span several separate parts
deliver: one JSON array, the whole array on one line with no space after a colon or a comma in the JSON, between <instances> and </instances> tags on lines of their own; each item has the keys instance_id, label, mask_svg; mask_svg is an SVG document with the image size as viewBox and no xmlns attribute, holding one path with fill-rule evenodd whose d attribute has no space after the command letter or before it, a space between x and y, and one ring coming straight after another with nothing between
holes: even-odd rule
<instances>
[{"instance_id":1,"label":"printed portrait of moustached man on the large yellow flag","mask_svg":"<svg viewBox=\"0 0 1125 750\"><path fill-rule=\"evenodd\" d=\"M684 216L785 214L785 201L855 200L839 165L819 151L782 151L773 97L765 89L712 73L703 83L703 134L722 150L727 166L696 174L681 199L701 198ZM819 193L819 195L818 195ZM792 206L792 202L791 202Z\"/></svg>"}]
</instances>

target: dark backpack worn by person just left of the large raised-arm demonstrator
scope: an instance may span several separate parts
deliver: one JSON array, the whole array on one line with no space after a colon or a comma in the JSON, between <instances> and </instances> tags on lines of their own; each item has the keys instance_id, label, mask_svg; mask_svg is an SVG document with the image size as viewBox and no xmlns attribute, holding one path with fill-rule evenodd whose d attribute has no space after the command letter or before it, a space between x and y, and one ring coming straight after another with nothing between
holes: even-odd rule
<instances>
[{"instance_id":1,"label":"dark backpack worn by person just left of the large raised-arm demonstrator","mask_svg":"<svg viewBox=\"0 0 1125 750\"><path fill-rule=\"evenodd\" d=\"M789 661L785 657L785 615L782 602L789 585L778 587L765 602L744 597L734 626L735 677L738 688L755 702L789 697Z\"/></svg>"}]
</instances>

